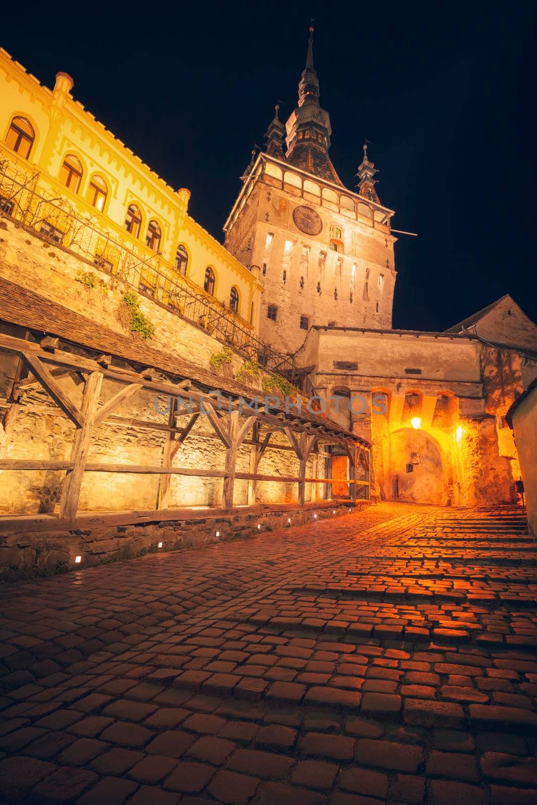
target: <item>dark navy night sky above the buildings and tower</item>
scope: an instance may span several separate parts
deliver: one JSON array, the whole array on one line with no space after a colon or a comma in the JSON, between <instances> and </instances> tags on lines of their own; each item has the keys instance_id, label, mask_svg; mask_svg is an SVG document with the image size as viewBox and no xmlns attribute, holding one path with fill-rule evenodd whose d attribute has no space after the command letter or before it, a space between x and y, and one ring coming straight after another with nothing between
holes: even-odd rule
<instances>
[{"instance_id":1,"label":"dark navy night sky above the buildings and tower","mask_svg":"<svg viewBox=\"0 0 537 805\"><path fill-rule=\"evenodd\" d=\"M505 293L537 320L532 5L108 3L93 19L93 4L10 3L2 46L49 87L69 72L221 240L275 101L283 118L295 106L312 15L341 180L367 137L394 228L419 233L395 246L394 327L442 330Z\"/></svg>"}]
</instances>

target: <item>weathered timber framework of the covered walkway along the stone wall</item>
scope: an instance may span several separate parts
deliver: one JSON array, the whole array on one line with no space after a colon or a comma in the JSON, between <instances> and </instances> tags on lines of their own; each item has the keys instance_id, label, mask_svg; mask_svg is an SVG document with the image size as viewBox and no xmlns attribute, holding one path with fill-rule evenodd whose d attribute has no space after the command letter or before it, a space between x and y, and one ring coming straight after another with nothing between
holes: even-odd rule
<instances>
[{"instance_id":1,"label":"weathered timber framework of the covered walkway along the stone wall","mask_svg":"<svg viewBox=\"0 0 537 805\"><path fill-rule=\"evenodd\" d=\"M39 299L31 292L30 295ZM45 302L44 299L43 302ZM46 306L59 308L48 300ZM65 308L61 308L61 310L67 313L71 320L88 321L85 317L68 312ZM165 353L157 353L155 350L148 349L145 345L140 345L140 348L137 349L132 341L123 339L122 336L116 335L115 340L120 342L120 346L121 341L129 344L130 349L127 355L120 352L114 355L100 353L95 345L74 341L72 333L70 337L60 338L58 333L61 326L58 324L58 320L55 320L53 313L52 309L48 310L48 314L50 314L48 320L54 322L52 327L56 331L52 333L35 330L30 323L31 313L28 314L30 318L25 323L22 322L20 316L10 316L9 319L6 317L0 320L0 352L14 355L17 358L10 395L2 405L5 410L2 417L5 440L0 447L0 470L64 470L60 520L72 520L76 517L84 473L159 475L157 511L169 508L171 474L223 478L221 508L225 510L233 507L235 479L249 481L249 505L254 505L256 502L257 481L297 483L299 504L304 504L306 483L327 484L329 490L332 482L336 480L338 483L349 485L351 499L356 500L357 498L357 486L364 488L363 495L360 497L369 498L370 444L366 440L307 411L299 414L292 408L285 411L282 405L272 404L270 407L259 405L258 411L255 411L251 407L246 407L247 403L254 400L251 389L247 390L246 387L242 387L234 381L226 381L225 378L219 378L222 388L215 389L215 385L212 384L217 378L205 373L199 367L191 365L192 370L189 372L186 361L180 361L181 366L178 372L179 361L176 359L168 357ZM3 315L5 316L5 312ZM26 328L26 336L19 338L3 334L1 332L2 324L7 328L23 326ZM76 327L76 321L71 324ZM51 327L50 324L49 327ZM136 357L143 357L143 353L152 353L152 357L159 357L160 361L153 361L152 365L140 362ZM80 405L73 403L57 382L57 378L69 374L77 375L84 381ZM122 388L107 403L100 405L101 385L105 378L121 383ZM24 394L39 386L48 393L60 411L76 427L69 460L6 458L17 416L23 407ZM234 388L230 388L230 386L234 386ZM122 422L130 423L135 427L153 428L164 432L162 464L146 466L89 463L87 457L94 429L106 421L114 423L115 419L117 423L116 413L122 404L142 391L149 391L155 395L167 395L170 402L167 424L124 418L122 418ZM178 410L177 407L177 397L184 394L188 394L188 398L193 403L192 408L189 408L188 411L184 411L181 407ZM225 402L225 411L218 410L218 398ZM262 400L259 402L262 403ZM206 415L213 428L215 438L224 444L224 466L221 469L192 469L174 466L174 458L201 414ZM187 417L186 422L184 422L184 417ZM299 473L296 477L269 476L258 472L262 456L271 443L271 436L276 432L283 432L287 436L289 447L271 444L271 448L291 450L295 453L299 459ZM236 471L237 453L242 444L250 444L250 472L248 473ZM316 456L319 456L324 446L327 445L337 445L349 457L350 477L346 480L316 477ZM329 455L329 453L324 452L324 455ZM313 477L306 477L307 462L310 456L313 456ZM357 477L358 467L362 469L366 480L360 480ZM316 489L317 486L314 486L314 498L316 498Z\"/></svg>"}]
</instances>

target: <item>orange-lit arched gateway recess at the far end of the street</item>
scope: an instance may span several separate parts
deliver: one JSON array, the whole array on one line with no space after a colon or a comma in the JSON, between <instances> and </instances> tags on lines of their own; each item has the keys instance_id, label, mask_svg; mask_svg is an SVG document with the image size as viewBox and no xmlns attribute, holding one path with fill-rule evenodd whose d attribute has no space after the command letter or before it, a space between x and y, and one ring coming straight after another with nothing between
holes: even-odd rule
<instances>
[{"instance_id":1,"label":"orange-lit arched gateway recess at the far end of the street","mask_svg":"<svg viewBox=\"0 0 537 805\"><path fill-rule=\"evenodd\" d=\"M386 486L390 500L444 504L444 468L436 439L410 427L392 433Z\"/></svg>"}]
</instances>

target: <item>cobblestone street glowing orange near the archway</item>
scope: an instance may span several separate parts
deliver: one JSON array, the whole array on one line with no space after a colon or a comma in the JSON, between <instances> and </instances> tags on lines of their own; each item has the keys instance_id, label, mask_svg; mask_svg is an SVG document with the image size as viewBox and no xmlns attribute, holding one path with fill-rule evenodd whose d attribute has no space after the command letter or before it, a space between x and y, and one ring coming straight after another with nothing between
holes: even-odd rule
<instances>
[{"instance_id":1,"label":"cobblestone street glowing orange near the archway","mask_svg":"<svg viewBox=\"0 0 537 805\"><path fill-rule=\"evenodd\" d=\"M536 558L382 503L6 586L0 797L535 805Z\"/></svg>"}]
</instances>

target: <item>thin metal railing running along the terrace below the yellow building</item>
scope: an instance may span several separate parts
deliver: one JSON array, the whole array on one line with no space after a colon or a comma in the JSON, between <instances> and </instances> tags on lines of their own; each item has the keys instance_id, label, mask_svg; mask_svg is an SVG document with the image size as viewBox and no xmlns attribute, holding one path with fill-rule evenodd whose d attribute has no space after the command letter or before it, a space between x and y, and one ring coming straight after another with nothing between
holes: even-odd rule
<instances>
[{"instance_id":1,"label":"thin metal railing running along the terrace below the yellow building","mask_svg":"<svg viewBox=\"0 0 537 805\"><path fill-rule=\"evenodd\" d=\"M203 328L242 357L294 380L293 356L259 341L233 311L196 290L196 285L180 275L162 254L151 251L128 233L122 237L121 229L106 227L101 217L81 213L39 171L2 159L1 154L0 212L165 304L172 313Z\"/></svg>"}]
</instances>

